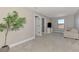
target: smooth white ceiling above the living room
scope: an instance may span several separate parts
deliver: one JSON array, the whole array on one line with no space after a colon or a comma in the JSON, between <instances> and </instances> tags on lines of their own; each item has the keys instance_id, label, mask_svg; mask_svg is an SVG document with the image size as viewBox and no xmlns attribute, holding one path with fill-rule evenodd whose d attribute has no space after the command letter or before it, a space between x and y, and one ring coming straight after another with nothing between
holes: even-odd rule
<instances>
[{"instance_id":1,"label":"smooth white ceiling above the living room","mask_svg":"<svg viewBox=\"0 0 79 59\"><path fill-rule=\"evenodd\" d=\"M32 7L32 10L48 17L62 17L77 12L78 7Z\"/></svg>"}]
</instances>

